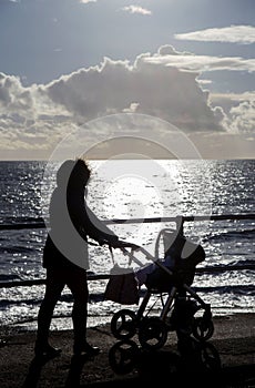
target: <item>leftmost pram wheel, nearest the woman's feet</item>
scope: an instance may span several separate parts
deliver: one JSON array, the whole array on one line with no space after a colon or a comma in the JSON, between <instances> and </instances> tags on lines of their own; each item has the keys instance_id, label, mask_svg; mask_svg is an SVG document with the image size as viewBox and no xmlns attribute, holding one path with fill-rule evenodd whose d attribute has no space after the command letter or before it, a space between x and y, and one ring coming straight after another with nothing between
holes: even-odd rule
<instances>
[{"instance_id":1,"label":"leftmost pram wheel, nearest the woman's feet","mask_svg":"<svg viewBox=\"0 0 255 388\"><path fill-rule=\"evenodd\" d=\"M116 312L111 320L111 331L118 339L129 339L136 331L136 315L134 312L123 308Z\"/></svg>"}]
</instances>

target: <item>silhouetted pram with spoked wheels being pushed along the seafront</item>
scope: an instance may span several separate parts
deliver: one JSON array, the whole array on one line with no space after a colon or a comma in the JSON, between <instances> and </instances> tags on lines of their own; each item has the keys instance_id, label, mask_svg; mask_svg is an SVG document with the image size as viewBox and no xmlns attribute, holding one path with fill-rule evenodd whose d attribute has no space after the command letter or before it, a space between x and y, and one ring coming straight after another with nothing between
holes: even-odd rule
<instances>
[{"instance_id":1,"label":"silhouetted pram with spoked wheels being pushed along the seafront","mask_svg":"<svg viewBox=\"0 0 255 388\"><path fill-rule=\"evenodd\" d=\"M159 258L162 237L165 247L163 259ZM141 246L136 246L136 251L122 251L130 259L140 251L153 264L145 269L145 293L137 312L122 308L114 313L111 331L115 338L129 340L137 335L142 348L153 350L164 346L169 331L176 331L180 340L193 335L195 339L205 341L213 336L211 305L191 288L195 267L205 259L205 252L200 244L192 243L173 229L164 228L156 239L155 256ZM137 278L141 274L144 275L143 270L135 273ZM147 307L152 296L161 302L159 316L152 315L153 306Z\"/></svg>"}]
</instances>

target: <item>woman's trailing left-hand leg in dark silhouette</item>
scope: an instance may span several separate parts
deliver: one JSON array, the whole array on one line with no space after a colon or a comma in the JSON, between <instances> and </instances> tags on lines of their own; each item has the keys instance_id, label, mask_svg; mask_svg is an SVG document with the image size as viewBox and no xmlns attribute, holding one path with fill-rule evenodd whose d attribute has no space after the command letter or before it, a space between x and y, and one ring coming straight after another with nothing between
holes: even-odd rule
<instances>
[{"instance_id":1,"label":"woman's trailing left-hand leg in dark silhouette","mask_svg":"<svg viewBox=\"0 0 255 388\"><path fill-rule=\"evenodd\" d=\"M64 278L61 269L47 269L45 293L38 314L38 333L35 353L43 353L48 345L49 330L54 307L64 288Z\"/></svg>"}]
</instances>

